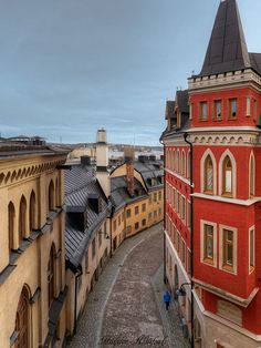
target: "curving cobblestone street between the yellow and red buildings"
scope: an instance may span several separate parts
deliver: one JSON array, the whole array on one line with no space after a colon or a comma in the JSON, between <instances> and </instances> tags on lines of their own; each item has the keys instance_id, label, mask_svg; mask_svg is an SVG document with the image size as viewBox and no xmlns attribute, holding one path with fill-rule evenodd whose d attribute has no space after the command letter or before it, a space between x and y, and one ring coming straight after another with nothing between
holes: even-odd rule
<instances>
[{"instance_id":1,"label":"curving cobblestone street between the yellow and red buildings","mask_svg":"<svg viewBox=\"0 0 261 348\"><path fill-rule=\"evenodd\" d=\"M125 240L90 295L67 347L189 347L173 306L168 313L163 306L161 265L161 225Z\"/></svg>"}]
</instances>

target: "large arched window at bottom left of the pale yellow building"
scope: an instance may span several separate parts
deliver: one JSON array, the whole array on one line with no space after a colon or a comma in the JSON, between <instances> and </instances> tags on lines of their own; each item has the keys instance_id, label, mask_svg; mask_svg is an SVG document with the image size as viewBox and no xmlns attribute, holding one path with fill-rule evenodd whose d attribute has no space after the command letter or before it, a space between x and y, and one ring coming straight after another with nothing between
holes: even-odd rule
<instances>
[{"instance_id":1,"label":"large arched window at bottom left of the pale yellow building","mask_svg":"<svg viewBox=\"0 0 261 348\"><path fill-rule=\"evenodd\" d=\"M30 313L29 313L29 294L25 286L22 289L18 311L15 318L15 331L18 338L15 340L15 348L29 348L30 345Z\"/></svg>"}]
</instances>

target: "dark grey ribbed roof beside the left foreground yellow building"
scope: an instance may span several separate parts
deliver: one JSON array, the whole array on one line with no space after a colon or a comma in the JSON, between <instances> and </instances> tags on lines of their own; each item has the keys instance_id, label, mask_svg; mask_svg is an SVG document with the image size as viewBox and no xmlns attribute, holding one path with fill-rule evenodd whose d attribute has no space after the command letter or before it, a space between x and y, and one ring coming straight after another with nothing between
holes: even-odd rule
<instances>
[{"instance_id":1,"label":"dark grey ribbed roof beside the left foreground yellow building","mask_svg":"<svg viewBox=\"0 0 261 348\"><path fill-rule=\"evenodd\" d=\"M74 222L66 214L65 253L66 259L76 268L85 255L87 245L104 219L111 214L111 204L107 202L95 172L91 166L73 165L65 172L65 209L77 211L83 207L87 213L87 225L84 232L79 231ZM102 199L102 212L97 214L88 202L88 196L97 194Z\"/></svg>"}]
</instances>

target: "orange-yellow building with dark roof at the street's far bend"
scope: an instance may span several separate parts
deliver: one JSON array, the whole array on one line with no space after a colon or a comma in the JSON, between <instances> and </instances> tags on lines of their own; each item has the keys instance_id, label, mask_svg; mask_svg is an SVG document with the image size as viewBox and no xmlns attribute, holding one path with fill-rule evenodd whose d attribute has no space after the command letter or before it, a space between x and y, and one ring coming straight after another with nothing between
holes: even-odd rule
<instances>
[{"instance_id":1,"label":"orange-yellow building with dark roof at the street's far bend","mask_svg":"<svg viewBox=\"0 0 261 348\"><path fill-rule=\"evenodd\" d=\"M127 185L127 164L111 173L112 253L126 237L148 228L164 218L164 180L161 164L140 161L133 164L133 193Z\"/></svg>"}]
</instances>

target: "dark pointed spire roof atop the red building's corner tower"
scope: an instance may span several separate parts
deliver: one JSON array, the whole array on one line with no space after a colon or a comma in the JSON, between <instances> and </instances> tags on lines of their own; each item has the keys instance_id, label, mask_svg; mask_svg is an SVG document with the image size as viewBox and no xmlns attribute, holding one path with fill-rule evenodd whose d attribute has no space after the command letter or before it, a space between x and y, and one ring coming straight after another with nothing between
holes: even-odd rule
<instances>
[{"instance_id":1,"label":"dark pointed spire roof atop the red building's corner tower","mask_svg":"<svg viewBox=\"0 0 261 348\"><path fill-rule=\"evenodd\" d=\"M199 75L249 68L250 58L236 0L221 0Z\"/></svg>"}]
</instances>

